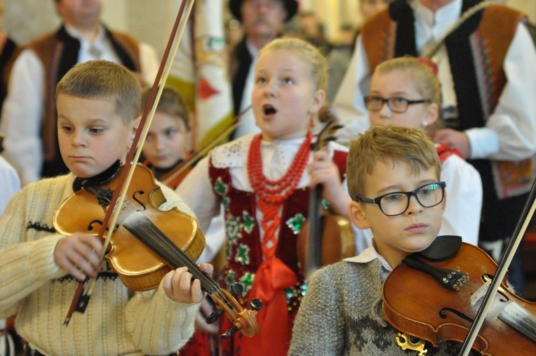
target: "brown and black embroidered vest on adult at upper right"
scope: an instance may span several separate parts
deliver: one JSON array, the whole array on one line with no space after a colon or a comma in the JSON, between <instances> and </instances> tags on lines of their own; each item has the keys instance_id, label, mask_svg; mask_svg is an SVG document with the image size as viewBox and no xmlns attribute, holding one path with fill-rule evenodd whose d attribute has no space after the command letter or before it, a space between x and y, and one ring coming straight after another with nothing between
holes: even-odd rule
<instances>
[{"instance_id":1,"label":"brown and black embroidered vest on adult at upper right","mask_svg":"<svg viewBox=\"0 0 536 356\"><path fill-rule=\"evenodd\" d=\"M462 13L480 0L463 0ZM445 39L457 98L460 130L483 127L507 83L503 62L523 13L500 5L476 12ZM415 18L406 0L395 0L361 29L370 71L380 62L403 55L418 56ZM500 199L530 190L532 159L469 160L482 180L493 180Z\"/></svg>"}]
</instances>

